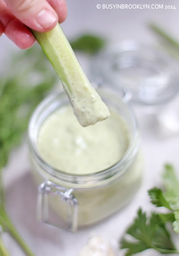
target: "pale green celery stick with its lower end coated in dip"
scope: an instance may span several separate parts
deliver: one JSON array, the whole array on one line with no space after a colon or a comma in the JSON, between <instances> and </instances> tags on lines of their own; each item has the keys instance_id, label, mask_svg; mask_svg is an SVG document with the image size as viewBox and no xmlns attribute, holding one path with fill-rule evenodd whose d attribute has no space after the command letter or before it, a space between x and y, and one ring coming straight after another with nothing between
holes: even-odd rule
<instances>
[{"instance_id":1,"label":"pale green celery stick with its lower end coated in dip","mask_svg":"<svg viewBox=\"0 0 179 256\"><path fill-rule=\"evenodd\" d=\"M59 76L81 126L109 117L107 106L91 86L60 25L48 32L32 33Z\"/></svg>"}]
</instances>

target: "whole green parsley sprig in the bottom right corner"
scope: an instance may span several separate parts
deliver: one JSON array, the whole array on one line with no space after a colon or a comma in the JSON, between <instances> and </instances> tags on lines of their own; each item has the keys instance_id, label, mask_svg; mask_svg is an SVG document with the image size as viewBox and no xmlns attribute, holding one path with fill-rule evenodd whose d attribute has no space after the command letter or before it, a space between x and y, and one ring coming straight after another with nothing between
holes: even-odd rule
<instances>
[{"instance_id":1,"label":"whole green parsley sprig in the bottom right corner","mask_svg":"<svg viewBox=\"0 0 179 256\"><path fill-rule=\"evenodd\" d=\"M127 249L126 256L147 249L161 254L179 254L166 227L167 223L172 223L174 231L179 233L179 181L172 165L165 165L162 178L164 189L154 187L148 193L151 203L167 209L167 212L151 212L148 216L142 209L138 210L137 217L120 241L120 248Z\"/></svg>"}]
</instances>

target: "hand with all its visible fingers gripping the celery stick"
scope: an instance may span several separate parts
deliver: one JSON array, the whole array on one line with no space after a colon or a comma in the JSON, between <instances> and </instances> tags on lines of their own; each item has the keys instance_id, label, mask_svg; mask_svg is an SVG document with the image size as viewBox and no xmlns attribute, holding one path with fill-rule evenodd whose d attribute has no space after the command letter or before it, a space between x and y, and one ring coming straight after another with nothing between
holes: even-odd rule
<instances>
[{"instance_id":1,"label":"hand with all its visible fingers gripping the celery stick","mask_svg":"<svg viewBox=\"0 0 179 256\"><path fill-rule=\"evenodd\" d=\"M0 0L0 35L21 49L30 48L35 38L28 27L45 32L66 16L65 0Z\"/></svg>"}]
</instances>

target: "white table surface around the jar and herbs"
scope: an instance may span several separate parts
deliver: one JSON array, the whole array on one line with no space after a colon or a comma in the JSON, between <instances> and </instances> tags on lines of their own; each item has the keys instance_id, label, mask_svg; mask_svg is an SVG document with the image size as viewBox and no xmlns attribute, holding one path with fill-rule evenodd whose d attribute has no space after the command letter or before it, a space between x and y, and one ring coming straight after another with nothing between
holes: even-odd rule
<instances>
[{"instance_id":1,"label":"white table surface around the jar and herbs","mask_svg":"<svg viewBox=\"0 0 179 256\"><path fill-rule=\"evenodd\" d=\"M97 9L97 4L169 4L176 10L169 9ZM149 22L157 22L179 39L179 2L178 0L67 0L68 18L63 24L68 38L82 32L92 32L105 35L111 42L123 39L135 39L139 42L156 43L156 37L149 30ZM0 38L0 66L7 56L18 49L5 36ZM81 65L88 60L81 58ZM84 67L86 68L86 67ZM179 98L179 97L178 97ZM179 99L172 108L179 109ZM159 126L153 116L144 116L135 110L136 119L141 131L141 149L144 155L144 174L142 186L135 198L125 208L106 221L70 234L50 226L37 223L35 219L35 204L37 188L30 175L30 163L26 141L13 151L8 166L4 169L6 184L7 208L12 220L21 232L26 242L34 251L35 256L77 256L86 243L91 232L101 235L116 244L127 226L136 216L136 211L142 207L149 212L154 207L149 203L147 190L161 186L163 165L169 162L175 166L179 174L179 133L170 133ZM23 256L8 236L4 241L12 256ZM179 247L179 241L176 241ZM124 251L117 250L116 255L123 256ZM142 252L142 256L157 256L153 251Z\"/></svg>"}]
</instances>

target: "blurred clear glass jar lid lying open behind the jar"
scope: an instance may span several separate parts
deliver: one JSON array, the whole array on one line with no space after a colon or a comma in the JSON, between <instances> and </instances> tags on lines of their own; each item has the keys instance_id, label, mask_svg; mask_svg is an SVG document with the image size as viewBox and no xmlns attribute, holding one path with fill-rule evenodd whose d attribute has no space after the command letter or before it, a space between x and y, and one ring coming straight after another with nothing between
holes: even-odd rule
<instances>
[{"instance_id":1,"label":"blurred clear glass jar lid lying open behind the jar","mask_svg":"<svg viewBox=\"0 0 179 256\"><path fill-rule=\"evenodd\" d=\"M179 91L174 61L162 50L134 41L123 41L100 52L90 73L92 81L127 91L138 104L166 104Z\"/></svg>"}]
</instances>

